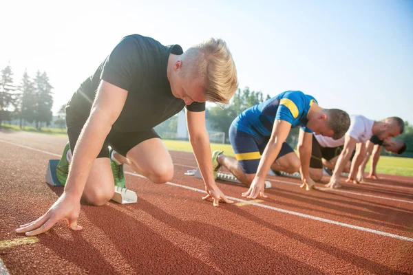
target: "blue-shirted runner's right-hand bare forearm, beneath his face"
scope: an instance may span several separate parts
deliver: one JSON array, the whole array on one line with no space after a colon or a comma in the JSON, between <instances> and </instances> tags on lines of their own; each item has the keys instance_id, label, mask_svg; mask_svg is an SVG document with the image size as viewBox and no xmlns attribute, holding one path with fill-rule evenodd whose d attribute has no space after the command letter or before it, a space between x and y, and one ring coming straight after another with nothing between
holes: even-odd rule
<instances>
[{"instance_id":1,"label":"blue-shirted runner's right-hand bare forearm, beneath his face","mask_svg":"<svg viewBox=\"0 0 413 275\"><path fill-rule=\"evenodd\" d=\"M307 133L302 129L299 130L299 138L297 144L297 151L301 167L299 168L301 173L301 181L310 181L310 158L311 158L311 146L313 145L313 133Z\"/></svg>"}]
</instances>

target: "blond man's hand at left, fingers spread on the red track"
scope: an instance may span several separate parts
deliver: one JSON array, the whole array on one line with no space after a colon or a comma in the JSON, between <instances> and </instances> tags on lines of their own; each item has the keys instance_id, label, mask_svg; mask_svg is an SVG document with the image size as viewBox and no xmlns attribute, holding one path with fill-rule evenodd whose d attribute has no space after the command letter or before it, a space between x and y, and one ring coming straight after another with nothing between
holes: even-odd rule
<instances>
[{"instance_id":1,"label":"blond man's hand at left, fingers spread on the red track","mask_svg":"<svg viewBox=\"0 0 413 275\"><path fill-rule=\"evenodd\" d=\"M70 229L82 230L81 225L77 224L79 212L81 212L80 200L64 192L43 216L31 223L20 225L16 232L25 233L26 236L38 235L50 230L61 219L68 221Z\"/></svg>"}]
</instances>

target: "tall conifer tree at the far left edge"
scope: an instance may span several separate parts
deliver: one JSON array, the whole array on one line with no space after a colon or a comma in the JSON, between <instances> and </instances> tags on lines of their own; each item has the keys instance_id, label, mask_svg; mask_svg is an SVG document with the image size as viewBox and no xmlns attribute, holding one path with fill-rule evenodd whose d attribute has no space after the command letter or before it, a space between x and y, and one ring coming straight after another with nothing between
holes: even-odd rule
<instances>
[{"instance_id":1,"label":"tall conifer tree at the far left edge","mask_svg":"<svg viewBox=\"0 0 413 275\"><path fill-rule=\"evenodd\" d=\"M9 107L14 102L13 91L13 72L12 67L7 65L1 70L0 76L0 126L3 120L10 118Z\"/></svg>"}]
</instances>

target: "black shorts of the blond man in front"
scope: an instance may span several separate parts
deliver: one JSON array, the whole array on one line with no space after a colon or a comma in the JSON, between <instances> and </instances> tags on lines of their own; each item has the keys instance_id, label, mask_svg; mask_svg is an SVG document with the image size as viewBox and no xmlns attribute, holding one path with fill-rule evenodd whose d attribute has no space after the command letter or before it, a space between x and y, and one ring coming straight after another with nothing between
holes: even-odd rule
<instances>
[{"instance_id":1,"label":"black shorts of the blond man in front","mask_svg":"<svg viewBox=\"0 0 413 275\"><path fill-rule=\"evenodd\" d=\"M83 129L83 125L87 120L87 116L77 113L71 107L66 108L66 126L67 135L69 136L70 149L72 152L76 146L79 135ZM109 148L111 146L117 153L126 157L127 152L134 148L134 146L149 140L151 138L160 138L160 136L153 130L142 132L121 132L112 128L105 139L102 149L98 157L109 157Z\"/></svg>"}]
</instances>

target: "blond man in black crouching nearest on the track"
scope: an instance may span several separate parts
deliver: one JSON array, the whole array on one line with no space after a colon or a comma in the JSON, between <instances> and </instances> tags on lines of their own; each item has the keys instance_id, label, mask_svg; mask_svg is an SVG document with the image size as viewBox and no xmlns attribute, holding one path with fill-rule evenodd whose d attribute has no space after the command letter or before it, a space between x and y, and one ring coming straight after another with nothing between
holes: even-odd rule
<instances>
[{"instance_id":1,"label":"blond man in black crouching nearest on the track","mask_svg":"<svg viewBox=\"0 0 413 275\"><path fill-rule=\"evenodd\" d=\"M215 184L205 127L205 102L228 103L237 89L235 63L226 43L209 39L186 52L150 37L126 36L74 93L66 107L73 156L63 195L36 221L17 232L41 234L59 220L77 224L81 198L101 206L114 195L112 160L128 164L156 184L173 177L171 156L153 127L187 109L189 139L213 205L226 199ZM63 165L60 166L61 168ZM60 172L64 172L63 169Z\"/></svg>"}]
</instances>

